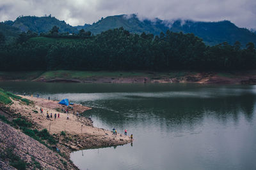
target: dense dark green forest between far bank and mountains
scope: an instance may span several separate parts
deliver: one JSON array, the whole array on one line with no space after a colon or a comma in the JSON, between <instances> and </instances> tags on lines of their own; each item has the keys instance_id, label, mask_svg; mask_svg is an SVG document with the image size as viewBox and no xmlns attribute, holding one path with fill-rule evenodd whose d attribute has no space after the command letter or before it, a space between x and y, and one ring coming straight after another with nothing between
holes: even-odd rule
<instances>
[{"instance_id":1,"label":"dense dark green forest between far bank and mountains","mask_svg":"<svg viewBox=\"0 0 256 170\"><path fill-rule=\"evenodd\" d=\"M0 33L0 69L34 70L220 70L255 69L253 43L241 48L221 43L207 46L194 34L161 32L132 34L122 27L96 36L81 29L77 34L60 33L54 26L40 35L22 32L12 44Z\"/></svg>"}]
</instances>

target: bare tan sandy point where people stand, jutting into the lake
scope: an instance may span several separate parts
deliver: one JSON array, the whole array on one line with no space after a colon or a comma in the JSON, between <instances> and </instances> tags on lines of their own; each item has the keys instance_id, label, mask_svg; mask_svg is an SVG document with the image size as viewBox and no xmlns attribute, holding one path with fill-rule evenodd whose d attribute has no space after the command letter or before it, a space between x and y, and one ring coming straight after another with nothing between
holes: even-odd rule
<instances>
[{"instance_id":1,"label":"bare tan sandy point where people stand, jutting into the lake","mask_svg":"<svg viewBox=\"0 0 256 170\"><path fill-rule=\"evenodd\" d=\"M32 129L38 131L47 129L49 134L58 141L54 147L57 147L61 153L64 153L66 159L69 161L70 153L76 150L103 148L131 143L129 136L124 136L119 133L113 135L109 130L93 127L93 122L90 118L76 116L76 111L83 113L92 108L82 106L81 104L74 104L72 107L75 110L75 114L74 112L67 114L61 113L61 109L65 109L67 106L58 104L58 101L30 96L20 97L22 97L22 99L28 99L33 103L27 105L26 103L12 99L13 103L5 106L6 110L1 108L0 115L4 115L9 120L23 117L26 119L26 122L30 122L33 125ZM44 109L44 113L40 113L40 108ZM49 115L52 113L52 118L46 118L47 111ZM56 118L54 118L55 113L57 115ZM58 118L58 114L60 114L60 118Z\"/></svg>"}]
</instances>

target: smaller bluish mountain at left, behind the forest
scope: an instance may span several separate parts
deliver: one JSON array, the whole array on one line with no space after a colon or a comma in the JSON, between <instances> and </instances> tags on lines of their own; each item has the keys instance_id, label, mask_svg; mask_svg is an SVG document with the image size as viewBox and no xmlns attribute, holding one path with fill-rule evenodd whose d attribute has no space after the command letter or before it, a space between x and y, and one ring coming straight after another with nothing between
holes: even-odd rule
<instances>
[{"instance_id":1,"label":"smaller bluish mountain at left, behind the forest","mask_svg":"<svg viewBox=\"0 0 256 170\"><path fill-rule=\"evenodd\" d=\"M33 32L49 32L54 25L59 27L60 32L77 32L77 29L68 25L65 21L61 21L56 19L55 17L18 17L14 22L8 21L6 23L8 25L12 25L13 27L17 27L20 31L33 31Z\"/></svg>"}]
</instances>

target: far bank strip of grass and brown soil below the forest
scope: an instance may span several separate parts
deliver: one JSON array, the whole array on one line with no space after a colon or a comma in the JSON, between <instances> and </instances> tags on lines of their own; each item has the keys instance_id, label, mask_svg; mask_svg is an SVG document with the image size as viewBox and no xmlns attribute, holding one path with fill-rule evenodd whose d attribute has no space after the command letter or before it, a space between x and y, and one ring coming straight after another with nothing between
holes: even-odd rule
<instances>
[{"instance_id":1,"label":"far bank strip of grass and brown soil below the forest","mask_svg":"<svg viewBox=\"0 0 256 170\"><path fill-rule=\"evenodd\" d=\"M250 71L27 71L1 72L0 81L63 83L200 83L256 84Z\"/></svg>"}]
</instances>

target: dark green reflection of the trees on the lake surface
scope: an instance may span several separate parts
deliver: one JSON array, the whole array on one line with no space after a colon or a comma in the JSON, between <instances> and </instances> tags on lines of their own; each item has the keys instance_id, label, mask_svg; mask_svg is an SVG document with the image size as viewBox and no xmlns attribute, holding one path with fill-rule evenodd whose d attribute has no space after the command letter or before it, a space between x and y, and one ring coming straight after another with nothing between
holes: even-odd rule
<instances>
[{"instance_id":1,"label":"dark green reflection of the trees on the lake surface","mask_svg":"<svg viewBox=\"0 0 256 170\"><path fill-rule=\"evenodd\" d=\"M203 122L205 117L214 117L225 124L230 118L236 123L239 113L244 113L250 122L256 96L244 94L241 96L221 96L212 98L173 97L116 99L95 101L96 108L88 111L100 117L108 125L159 124L161 127L193 125Z\"/></svg>"}]
</instances>

